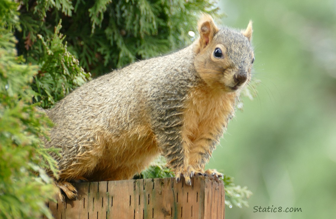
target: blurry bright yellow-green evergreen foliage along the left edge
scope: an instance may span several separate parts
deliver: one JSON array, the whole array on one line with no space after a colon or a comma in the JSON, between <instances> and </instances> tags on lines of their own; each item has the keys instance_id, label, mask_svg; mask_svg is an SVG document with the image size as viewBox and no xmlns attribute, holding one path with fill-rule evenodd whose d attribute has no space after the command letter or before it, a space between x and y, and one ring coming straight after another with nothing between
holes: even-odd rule
<instances>
[{"instance_id":1,"label":"blurry bright yellow-green evergreen foliage along the left edge","mask_svg":"<svg viewBox=\"0 0 336 219\"><path fill-rule=\"evenodd\" d=\"M0 218L52 218L45 201L54 187L45 169L55 171L56 163L40 140L51 123L31 104L38 66L16 54L16 7L0 0Z\"/></svg>"}]
</instances>

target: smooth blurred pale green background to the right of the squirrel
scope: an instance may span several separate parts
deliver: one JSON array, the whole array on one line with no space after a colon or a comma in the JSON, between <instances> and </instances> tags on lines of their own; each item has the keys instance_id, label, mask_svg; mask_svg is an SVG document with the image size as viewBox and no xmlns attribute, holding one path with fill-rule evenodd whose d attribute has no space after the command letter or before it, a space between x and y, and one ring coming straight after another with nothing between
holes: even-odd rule
<instances>
[{"instance_id":1,"label":"smooth blurred pale green background to the right of the squirrel","mask_svg":"<svg viewBox=\"0 0 336 219\"><path fill-rule=\"evenodd\" d=\"M225 218L336 218L336 1L220 1L222 23L253 20L257 97L229 123L207 168L253 192ZM254 212L254 207L302 212Z\"/></svg>"}]
</instances>

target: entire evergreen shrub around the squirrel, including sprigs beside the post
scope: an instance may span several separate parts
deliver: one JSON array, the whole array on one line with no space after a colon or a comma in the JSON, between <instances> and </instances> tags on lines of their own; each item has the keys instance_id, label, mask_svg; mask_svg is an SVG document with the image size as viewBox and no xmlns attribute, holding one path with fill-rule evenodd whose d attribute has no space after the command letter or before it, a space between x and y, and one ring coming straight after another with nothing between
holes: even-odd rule
<instances>
[{"instance_id":1,"label":"entire evergreen shrub around the squirrel, including sprigs beside the post","mask_svg":"<svg viewBox=\"0 0 336 219\"><path fill-rule=\"evenodd\" d=\"M89 72L190 44L199 13L217 9L213 0L0 0L0 218L51 218L44 203L54 187L45 170L57 177L49 156L57 151L40 140L51 122L36 104L52 107ZM139 177L173 176L163 165Z\"/></svg>"}]
</instances>

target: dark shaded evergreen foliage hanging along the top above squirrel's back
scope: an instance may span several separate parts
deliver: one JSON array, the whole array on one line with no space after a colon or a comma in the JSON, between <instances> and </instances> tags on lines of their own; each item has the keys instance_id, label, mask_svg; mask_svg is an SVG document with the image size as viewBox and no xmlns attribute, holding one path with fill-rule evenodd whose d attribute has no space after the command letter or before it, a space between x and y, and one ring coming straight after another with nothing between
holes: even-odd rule
<instances>
[{"instance_id":1,"label":"dark shaded evergreen foliage hanging along the top above squirrel's back","mask_svg":"<svg viewBox=\"0 0 336 219\"><path fill-rule=\"evenodd\" d=\"M198 14L214 13L214 1L30 1L19 9L22 32L17 34L19 52L39 57L38 34L51 36L62 19L69 51L80 66L97 75L139 59L145 59L189 44L189 31L197 32ZM31 61L30 59L27 59ZM33 61L32 61L33 62Z\"/></svg>"}]
</instances>

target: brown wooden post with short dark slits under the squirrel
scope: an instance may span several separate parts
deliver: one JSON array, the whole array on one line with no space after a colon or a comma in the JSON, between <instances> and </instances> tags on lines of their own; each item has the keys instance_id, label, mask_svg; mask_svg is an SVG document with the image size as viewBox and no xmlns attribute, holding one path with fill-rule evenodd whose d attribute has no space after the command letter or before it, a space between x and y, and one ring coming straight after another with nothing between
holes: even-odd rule
<instances>
[{"instance_id":1,"label":"brown wooden post with short dark slits under the squirrel","mask_svg":"<svg viewBox=\"0 0 336 219\"><path fill-rule=\"evenodd\" d=\"M49 202L55 219L224 219L224 185L203 176L74 184L78 200Z\"/></svg>"}]
</instances>

